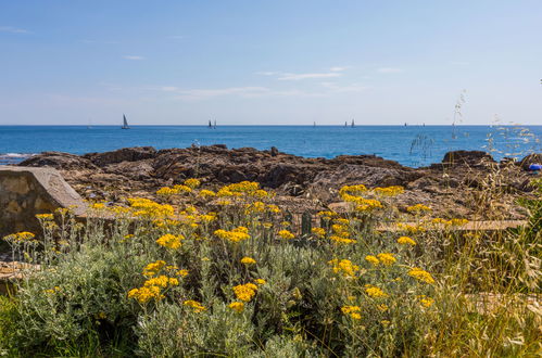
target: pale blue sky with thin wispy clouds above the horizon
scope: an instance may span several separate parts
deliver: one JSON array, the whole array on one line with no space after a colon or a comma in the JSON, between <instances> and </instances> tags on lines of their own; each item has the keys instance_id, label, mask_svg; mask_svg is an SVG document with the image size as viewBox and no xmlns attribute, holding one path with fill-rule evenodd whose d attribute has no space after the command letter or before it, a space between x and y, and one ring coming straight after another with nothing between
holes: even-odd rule
<instances>
[{"instance_id":1,"label":"pale blue sky with thin wispy clouds above the horizon","mask_svg":"<svg viewBox=\"0 0 542 358\"><path fill-rule=\"evenodd\" d=\"M542 125L541 78L540 0L0 0L0 125Z\"/></svg>"}]
</instances>

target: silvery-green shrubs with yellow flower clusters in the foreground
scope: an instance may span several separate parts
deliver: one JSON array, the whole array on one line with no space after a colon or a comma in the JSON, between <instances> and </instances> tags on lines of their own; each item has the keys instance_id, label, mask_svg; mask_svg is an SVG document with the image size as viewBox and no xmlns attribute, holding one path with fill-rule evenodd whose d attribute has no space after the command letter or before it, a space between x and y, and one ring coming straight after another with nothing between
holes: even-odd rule
<instances>
[{"instance_id":1,"label":"silvery-green shrubs with yellow flower clusters in the foreground","mask_svg":"<svg viewBox=\"0 0 542 358\"><path fill-rule=\"evenodd\" d=\"M411 222L378 230L398 215L401 187L345 186L346 210L319 212L320 225L303 231L259 183L201 184L162 188L164 203L94 205L116 217L111 225L97 215L83 231L62 212L38 217L43 234L7 236L21 259L40 264L18 285L16 353L63 355L70 346L91 349L71 355L108 356L104 347L122 341L126 355L156 357L468 355L454 341L467 333L454 328L493 324L470 320L462 301L489 281L464 273L482 240L455 230L465 220L430 218L419 204L404 214ZM528 327L540 320L526 315L530 325L495 321L503 331L484 351L520 353L505 345L509 332L534 341Z\"/></svg>"}]
</instances>

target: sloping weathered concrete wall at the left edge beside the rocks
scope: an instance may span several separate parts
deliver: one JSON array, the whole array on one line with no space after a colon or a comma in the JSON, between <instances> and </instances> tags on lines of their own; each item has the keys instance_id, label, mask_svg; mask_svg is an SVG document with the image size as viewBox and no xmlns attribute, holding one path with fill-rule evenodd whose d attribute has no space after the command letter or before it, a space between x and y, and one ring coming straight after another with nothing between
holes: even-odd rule
<instances>
[{"instance_id":1,"label":"sloping weathered concrete wall at the left edge beside the rocks","mask_svg":"<svg viewBox=\"0 0 542 358\"><path fill-rule=\"evenodd\" d=\"M36 214L72 207L76 215L86 204L53 168L0 166L0 238L13 232L39 233Z\"/></svg>"}]
</instances>

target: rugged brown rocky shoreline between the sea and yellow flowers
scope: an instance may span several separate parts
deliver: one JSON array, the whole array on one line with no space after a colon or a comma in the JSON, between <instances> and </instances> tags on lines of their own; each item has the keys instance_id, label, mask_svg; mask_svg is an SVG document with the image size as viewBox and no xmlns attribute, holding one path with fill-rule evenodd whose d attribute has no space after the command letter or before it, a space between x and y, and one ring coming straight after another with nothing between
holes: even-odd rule
<instances>
[{"instance_id":1,"label":"rugged brown rocky shoreline between the sea and yellow flowers","mask_svg":"<svg viewBox=\"0 0 542 358\"><path fill-rule=\"evenodd\" d=\"M484 152L457 151L448 153L442 163L411 168L373 155L305 158L275 148L228 150L216 144L160 151L126 148L85 155L43 152L18 165L56 168L90 201L123 204L129 196L155 199L157 189L197 177L209 189L257 181L300 212L327 207L338 201L340 187L363 183L404 187L405 193L395 199L400 210L423 203L440 217L520 219L526 213L516 199L532 195L530 181L535 178L525 169L541 162L542 154L496 163Z\"/></svg>"}]
</instances>

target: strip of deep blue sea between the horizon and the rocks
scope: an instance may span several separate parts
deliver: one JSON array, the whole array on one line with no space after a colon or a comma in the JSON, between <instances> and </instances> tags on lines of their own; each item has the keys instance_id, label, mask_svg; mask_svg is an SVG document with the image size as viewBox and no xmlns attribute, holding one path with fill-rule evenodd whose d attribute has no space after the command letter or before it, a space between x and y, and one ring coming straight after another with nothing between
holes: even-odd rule
<instances>
[{"instance_id":1,"label":"strip of deep blue sea between the horizon and the rocks","mask_svg":"<svg viewBox=\"0 0 542 358\"><path fill-rule=\"evenodd\" d=\"M542 152L542 126L0 126L0 157L16 158L43 151L73 154L126 146L156 149L192 144L252 146L306 157L376 154L419 167L442 161L452 150L484 150L500 159Z\"/></svg>"}]
</instances>

